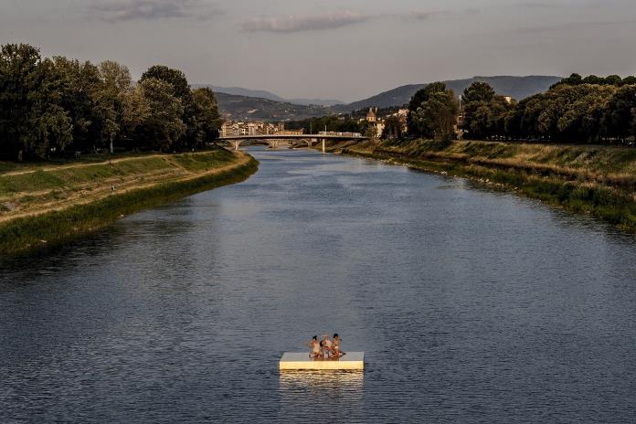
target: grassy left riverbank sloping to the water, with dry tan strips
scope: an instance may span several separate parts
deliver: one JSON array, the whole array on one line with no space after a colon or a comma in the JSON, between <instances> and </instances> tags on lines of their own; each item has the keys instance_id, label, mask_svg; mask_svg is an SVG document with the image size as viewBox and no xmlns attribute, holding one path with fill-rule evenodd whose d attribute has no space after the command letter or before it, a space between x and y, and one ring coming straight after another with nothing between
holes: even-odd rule
<instances>
[{"instance_id":1,"label":"grassy left riverbank sloping to the water, with dry tan strips","mask_svg":"<svg viewBox=\"0 0 636 424\"><path fill-rule=\"evenodd\" d=\"M0 256L59 245L144 208L238 183L257 168L247 154L218 150L5 172Z\"/></svg>"}]
</instances>

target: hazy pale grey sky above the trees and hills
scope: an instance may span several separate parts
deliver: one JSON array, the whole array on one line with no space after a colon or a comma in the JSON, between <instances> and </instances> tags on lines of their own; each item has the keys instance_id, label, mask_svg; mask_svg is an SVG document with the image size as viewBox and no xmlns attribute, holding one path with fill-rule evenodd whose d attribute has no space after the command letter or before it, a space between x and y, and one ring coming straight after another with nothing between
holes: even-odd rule
<instances>
[{"instance_id":1,"label":"hazy pale grey sky above the trees and hills","mask_svg":"<svg viewBox=\"0 0 636 424\"><path fill-rule=\"evenodd\" d=\"M474 75L636 74L636 0L0 0L0 44L355 101Z\"/></svg>"}]
</instances>

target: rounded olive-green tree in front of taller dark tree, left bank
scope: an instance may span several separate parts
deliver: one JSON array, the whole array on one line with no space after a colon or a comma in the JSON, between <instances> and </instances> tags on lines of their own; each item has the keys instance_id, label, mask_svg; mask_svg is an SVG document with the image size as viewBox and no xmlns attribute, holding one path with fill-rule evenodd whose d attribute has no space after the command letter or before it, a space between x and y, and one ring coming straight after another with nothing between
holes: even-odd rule
<instances>
[{"instance_id":1,"label":"rounded olive-green tree in front of taller dark tree, left bank","mask_svg":"<svg viewBox=\"0 0 636 424\"><path fill-rule=\"evenodd\" d=\"M181 120L184 113L182 101L175 96L173 86L164 80L146 78L141 82L141 90L147 114L137 132L154 150L174 150L186 130Z\"/></svg>"}]
</instances>

